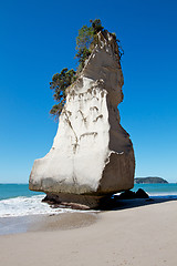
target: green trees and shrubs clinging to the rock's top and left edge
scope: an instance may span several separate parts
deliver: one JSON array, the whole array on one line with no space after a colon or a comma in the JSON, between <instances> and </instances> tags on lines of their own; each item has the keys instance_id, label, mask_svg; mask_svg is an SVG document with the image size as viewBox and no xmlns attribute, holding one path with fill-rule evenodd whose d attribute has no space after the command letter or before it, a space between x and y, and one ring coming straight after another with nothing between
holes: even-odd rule
<instances>
[{"instance_id":1,"label":"green trees and shrubs clinging to the rock's top and left edge","mask_svg":"<svg viewBox=\"0 0 177 266\"><path fill-rule=\"evenodd\" d=\"M79 60L79 66L77 70L74 71L69 70L67 68L63 69L61 73L56 73L52 78L52 82L50 82L50 89L53 90L54 94L53 98L55 100L55 104L52 106L50 114L54 115L56 119L60 116L65 99L66 93L65 90L67 86L70 86L80 75L80 72L83 70L85 60L88 59L91 55L93 49L95 48L97 43L97 33L101 31L103 34L104 32L107 32L104 30L104 27L102 25L102 22L100 19L96 20L90 20L91 25L83 25L79 30L79 35L76 37L76 54L75 58ZM118 45L118 59L122 58L124 51L122 47L119 45L119 40L116 39L115 33L110 33L116 41Z\"/></svg>"}]
</instances>

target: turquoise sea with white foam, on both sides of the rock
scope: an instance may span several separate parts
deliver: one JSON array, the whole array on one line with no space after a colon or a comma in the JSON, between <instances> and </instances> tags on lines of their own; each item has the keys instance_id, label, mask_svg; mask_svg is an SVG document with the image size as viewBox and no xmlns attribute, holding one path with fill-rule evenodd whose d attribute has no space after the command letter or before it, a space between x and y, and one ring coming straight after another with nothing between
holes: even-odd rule
<instances>
[{"instance_id":1,"label":"turquoise sea with white foam, on both sides of the rock","mask_svg":"<svg viewBox=\"0 0 177 266\"><path fill-rule=\"evenodd\" d=\"M133 191L138 188L145 190L152 197L177 198L177 184L135 184ZM44 193L29 191L28 184L0 184L0 218L75 212L51 208L41 202L44 196Z\"/></svg>"}]
</instances>

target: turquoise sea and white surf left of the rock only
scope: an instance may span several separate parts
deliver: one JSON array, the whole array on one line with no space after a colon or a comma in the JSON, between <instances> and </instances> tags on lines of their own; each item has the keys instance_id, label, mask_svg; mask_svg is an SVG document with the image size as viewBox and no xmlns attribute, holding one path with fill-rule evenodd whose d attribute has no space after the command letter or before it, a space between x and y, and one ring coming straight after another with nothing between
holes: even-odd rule
<instances>
[{"instance_id":1,"label":"turquoise sea and white surf left of the rock only","mask_svg":"<svg viewBox=\"0 0 177 266\"><path fill-rule=\"evenodd\" d=\"M44 196L44 193L30 191L28 184L0 184L0 218L75 212L71 208L52 208L42 202Z\"/></svg>"}]
</instances>

